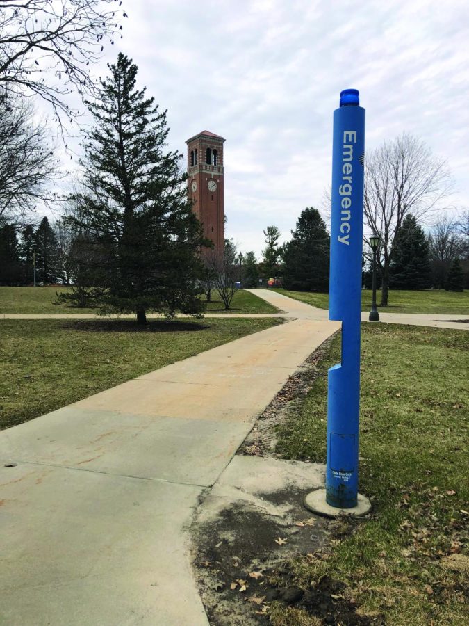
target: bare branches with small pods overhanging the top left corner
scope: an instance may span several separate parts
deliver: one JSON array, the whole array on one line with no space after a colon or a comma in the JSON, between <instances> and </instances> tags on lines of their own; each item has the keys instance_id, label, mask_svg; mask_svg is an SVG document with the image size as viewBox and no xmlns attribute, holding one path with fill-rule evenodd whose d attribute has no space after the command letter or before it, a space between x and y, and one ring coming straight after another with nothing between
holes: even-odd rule
<instances>
[{"instance_id":1,"label":"bare branches with small pods overhanging the top left corner","mask_svg":"<svg viewBox=\"0 0 469 626\"><path fill-rule=\"evenodd\" d=\"M94 89L89 66L122 26L122 0L3 0L0 4L0 85L6 93L38 95L60 122L76 115L72 91Z\"/></svg>"}]
</instances>

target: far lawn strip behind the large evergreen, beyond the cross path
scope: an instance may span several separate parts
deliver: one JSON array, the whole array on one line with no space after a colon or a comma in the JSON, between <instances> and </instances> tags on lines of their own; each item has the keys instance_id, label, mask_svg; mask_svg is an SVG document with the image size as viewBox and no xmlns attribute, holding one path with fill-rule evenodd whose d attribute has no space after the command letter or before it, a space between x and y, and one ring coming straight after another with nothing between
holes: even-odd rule
<instances>
[{"instance_id":1,"label":"far lawn strip behind the large evergreen, beyond the cross path","mask_svg":"<svg viewBox=\"0 0 469 626\"><path fill-rule=\"evenodd\" d=\"M69 291L69 287L0 287L0 314L60 314L96 313L96 309L81 309L69 305L56 305L56 291ZM278 310L249 291L236 291L231 307L224 310L218 294L208 303L207 313L277 313Z\"/></svg>"}]
</instances>

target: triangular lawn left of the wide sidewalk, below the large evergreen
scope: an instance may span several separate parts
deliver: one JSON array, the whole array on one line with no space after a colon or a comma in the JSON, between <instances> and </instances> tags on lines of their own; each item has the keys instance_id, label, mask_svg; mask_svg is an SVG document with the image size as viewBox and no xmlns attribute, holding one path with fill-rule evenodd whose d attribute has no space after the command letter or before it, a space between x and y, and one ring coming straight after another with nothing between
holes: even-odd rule
<instances>
[{"instance_id":1,"label":"triangular lawn left of the wide sidewalk, below the large evergreen","mask_svg":"<svg viewBox=\"0 0 469 626\"><path fill-rule=\"evenodd\" d=\"M0 428L7 428L279 319L0 320Z\"/></svg>"}]
</instances>

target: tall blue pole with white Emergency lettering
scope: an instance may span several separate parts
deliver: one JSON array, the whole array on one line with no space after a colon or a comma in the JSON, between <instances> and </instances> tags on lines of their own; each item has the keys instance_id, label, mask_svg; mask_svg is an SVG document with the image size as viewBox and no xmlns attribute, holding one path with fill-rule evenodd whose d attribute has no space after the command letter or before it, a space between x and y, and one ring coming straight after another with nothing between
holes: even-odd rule
<instances>
[{"instance_id":1,"label":"tall blue pole with white Emergency lettering","mask_svg":"<svg viewBox=\"0 0 469 626\"><path fill-rule=\"evenodd\" d=\"M329 369L326 501L357 504L359 478L361 258L365 109L359 92L340 93L332 147L329 319L342 321L342 362Z\"/></svg>"}]
</instances>

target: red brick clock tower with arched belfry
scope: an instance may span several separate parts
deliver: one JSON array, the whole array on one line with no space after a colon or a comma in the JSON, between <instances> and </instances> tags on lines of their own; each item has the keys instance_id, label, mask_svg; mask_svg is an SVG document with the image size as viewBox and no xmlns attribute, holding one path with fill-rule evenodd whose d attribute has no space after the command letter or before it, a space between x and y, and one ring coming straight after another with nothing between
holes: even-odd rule
<instances>
[{"instance_id":1,"label":"red brick clock tower with arched belfry","mask_svg":"<svg viewBox=\"0 0 469 626\"><path fill-rule=\"evenodd\" d=\"M204 227L205 236L213 241L215 252L220 252L223 250L224 242L224 138L209 131L202 131L188 139L186 143L192 209Z\"/></svg>"}]
</instances>

